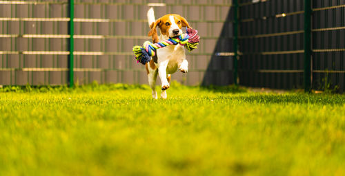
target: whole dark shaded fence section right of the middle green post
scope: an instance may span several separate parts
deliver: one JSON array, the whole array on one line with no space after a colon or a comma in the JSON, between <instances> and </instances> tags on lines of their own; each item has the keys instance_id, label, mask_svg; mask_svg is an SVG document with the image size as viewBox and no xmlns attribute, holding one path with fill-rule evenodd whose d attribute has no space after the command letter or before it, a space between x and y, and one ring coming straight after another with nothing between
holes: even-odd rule
<instances>
[{"instance_id":1,"label":"whole dark shaded fence section right of the middle green post","mask_svg":"<svg viewBox=\"0 0 345 176\"><path fill-rule=\"evenodd\" d=\"M242 0L239 83L344 91L344 8L344 0Z\"/></svg>"}]
</instances>

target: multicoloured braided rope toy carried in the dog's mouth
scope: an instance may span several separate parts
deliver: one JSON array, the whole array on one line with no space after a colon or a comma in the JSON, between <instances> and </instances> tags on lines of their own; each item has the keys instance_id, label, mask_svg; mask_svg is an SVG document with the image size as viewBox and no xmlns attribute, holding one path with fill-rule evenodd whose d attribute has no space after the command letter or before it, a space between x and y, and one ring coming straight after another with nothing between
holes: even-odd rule
<instances>
[{"instance_id":1,"label":"multicoloured braided rope toy carried in the dog's mouth","mask_svg":"<svg viewBox=\"0 0 345 176\"><path fill-rule=\"evenodd\" d=\"M146 41L144 42L143 47L133 47L133 52L137 63L142 63L145 65L146 63L150 62L151 56L155 56L155 50L169 45L183 45L189 52L197 49L200 39L200 36L197 34L197 30L192 28L186 28L186 30L187 34L181 34L180 36L176 36L172 39L161 41L159 43L150 43L149 41Z\"/></svg>"}]
</instances>

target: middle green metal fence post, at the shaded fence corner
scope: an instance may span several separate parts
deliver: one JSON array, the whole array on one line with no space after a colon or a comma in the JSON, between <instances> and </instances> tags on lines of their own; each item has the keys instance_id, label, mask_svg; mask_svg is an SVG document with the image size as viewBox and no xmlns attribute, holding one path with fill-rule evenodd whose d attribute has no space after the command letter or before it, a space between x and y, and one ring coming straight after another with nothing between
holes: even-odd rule
<instances>
[{"instance_id":1,"label":"middle green metal fence post, at the shaded fence corner","mask_svg":"<svg viewBox=\"0 0 345 176\"><path fill-rule=\"evenodd\" d=\"M233 0L233 8L234 8L234 23L233 23L233 50L234 50L234 83L237 85L237 72L238 72L238 66L237 66L237 50L238 50L238 0Z\"/></svg>"}]
</instances>

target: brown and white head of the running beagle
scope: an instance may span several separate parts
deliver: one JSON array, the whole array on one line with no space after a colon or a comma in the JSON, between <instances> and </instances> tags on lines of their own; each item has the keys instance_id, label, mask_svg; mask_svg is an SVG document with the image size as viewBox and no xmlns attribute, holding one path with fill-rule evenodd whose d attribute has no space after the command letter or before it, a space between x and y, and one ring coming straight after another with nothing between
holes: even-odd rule
<instances>
[{"instance_id":1,"label":"brown and white head of the running beagle","mask_svg":"<svg viewBox=\"0 0 345 176\"><path fill-rule=\"evenodd\" d=\"M155 36L157 34L157 26L161 30L161 35L169 38L181 35L182 27L190 28L187 20L179 14L166 14L150 25L151 30L148 32L148 36Z\"/></svg>"}]
</instances>

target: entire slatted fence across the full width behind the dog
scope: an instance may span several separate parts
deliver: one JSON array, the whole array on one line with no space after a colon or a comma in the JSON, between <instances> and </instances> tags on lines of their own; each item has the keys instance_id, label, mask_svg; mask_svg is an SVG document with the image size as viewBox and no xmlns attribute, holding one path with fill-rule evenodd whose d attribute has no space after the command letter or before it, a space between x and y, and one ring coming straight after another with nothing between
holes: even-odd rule
<instances>
[{"instance_id":1,"label":"entire slatted fence across the full width behind the dog","mask_svg":"<svg viewBox=\"0 0 345 176\"><path fill-rule=\"evenodd\" d=\"M188 53L188 74L172 80L345 89L345 0L0 1L0 85L66 85L70 76L79 85L146 84L132 47L150 40L150 6L156 19L181 14L201 36L199 49Z\"/></svg>"}]
</instances>

